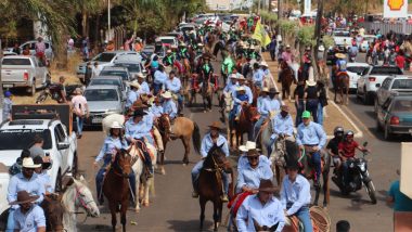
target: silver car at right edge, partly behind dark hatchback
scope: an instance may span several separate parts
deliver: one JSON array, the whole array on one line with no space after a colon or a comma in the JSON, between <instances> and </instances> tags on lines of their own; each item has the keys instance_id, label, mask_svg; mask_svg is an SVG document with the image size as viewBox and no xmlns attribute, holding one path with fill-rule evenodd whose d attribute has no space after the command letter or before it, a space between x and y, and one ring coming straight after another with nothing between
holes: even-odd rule
<instances>
[{"instance_id":1,"label":"silver car at right edge, partly behind dark hatchback","mask_svg":"<svg viewBox=\"0 0 412 232\"><path fill-rule=\"evenodd\" d=\"M394 93L412 94L412 76L401 75L388 77L382 83L376 83L379 89L376 91L375 113L378 105L382 105Z\"/></svg>"}]
</instances>

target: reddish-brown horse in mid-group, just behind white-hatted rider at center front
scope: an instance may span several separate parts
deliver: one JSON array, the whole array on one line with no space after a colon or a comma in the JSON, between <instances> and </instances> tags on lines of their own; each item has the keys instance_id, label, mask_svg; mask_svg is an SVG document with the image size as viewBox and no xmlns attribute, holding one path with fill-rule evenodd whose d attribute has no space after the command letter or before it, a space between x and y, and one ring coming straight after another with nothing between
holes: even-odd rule
<instances>
[{"instance_id":1,"label":"reddish-brown horse in mid-group, just behind white-hatted rider at center front","mask_svg":"<svg viewBox=\"0 0 412 232\"><path fill-rule=\"evenodd\" d=\"M230 131L235 130L236 145L243 144L243 134L247 133L247 140L253 140L254 123L257 120L257 108L252 105L243 105L239 121L234 119L229 124ZM233 147L233 133L230 134L230 143Z\"/></svg>"}]
</instances>

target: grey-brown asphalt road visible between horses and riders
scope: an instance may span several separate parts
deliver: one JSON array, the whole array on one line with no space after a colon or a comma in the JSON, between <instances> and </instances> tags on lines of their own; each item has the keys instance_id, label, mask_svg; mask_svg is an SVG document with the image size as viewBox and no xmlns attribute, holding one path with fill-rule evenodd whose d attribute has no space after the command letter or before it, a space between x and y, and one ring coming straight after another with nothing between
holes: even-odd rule
<instances>
[{"instance_id":1,"label":"grey-brown asphalt road visible between horses and riders","mask_svg":"<svg viewBox=\"0 0 412 232\"><path fill-rule=\"evenodd\" d=\"M216 67L216 70L219 69ZM332 218L332 229L334 231L336 221L345 219L350 221L353 231L391 231L392 211L385 204L385 195L390 182L397 178L396 169L400 163L400 142L411 141L411 139L399 138L390 142L384 141L382 134L375 130L372 106L358 103L355 95L350 100L349 106L344 106L344 111L350 112L348 113L349 116L363 131L364 137L358 142L368 141L369 147L372 150L368 159L370 159L370 173L377 191L377 204L370 204L370 198L364 189L358 193L352 193L350 196L343 196L331 181L331 204L327 210ZM198 124L202 134L206 132L207 125L219 118L216 106L210 113L202 113L199 106L185 108L184 114ZM80 171L90 181L89 185L93 192L95 189L94 173L98 170L91 168L91 164L102 145L103 139L101 131L87 131L79 140ZM191 197L190 171L199 156L192 149L190 165L182 166L182 155L183 145L180 141L168 144L165 166L167 175L155 175L156 196L151 198L150 207L142 208L138 215L130 208L127 215L128 231L198 231L199 205L197 199ZM226 207L223 208L223 216L226 216L227 210ZM110 231L111 216L107 207L103 207L101 212L100 218L89 218L85 223L79 223L79 229L81 231ZM205 229L211 230L211 216L213 206L208 203ZM79 215L80 222L82 217ZM137 222L137 224L131 224L131 221ZM220 228L220 231L226 231L226 229Z\"/></svg>"}]
</instances>

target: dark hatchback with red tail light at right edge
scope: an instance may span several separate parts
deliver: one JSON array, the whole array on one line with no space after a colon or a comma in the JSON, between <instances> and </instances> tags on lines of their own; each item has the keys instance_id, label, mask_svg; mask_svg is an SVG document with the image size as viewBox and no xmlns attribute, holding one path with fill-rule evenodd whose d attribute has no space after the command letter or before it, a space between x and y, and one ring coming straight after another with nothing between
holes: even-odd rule
<instances>
[{"instance_id":1,"label":"dark hatchback with red tail light at right edge","mask_svg":"<svg viewBox=\"0 0 412 232\"><path fill-rule=\"evenodd\" d=\"M390 95L377 106L377 130L384 131L385 140L392 134L412 134L412 95Z\"/></svg>"}]
</instances>

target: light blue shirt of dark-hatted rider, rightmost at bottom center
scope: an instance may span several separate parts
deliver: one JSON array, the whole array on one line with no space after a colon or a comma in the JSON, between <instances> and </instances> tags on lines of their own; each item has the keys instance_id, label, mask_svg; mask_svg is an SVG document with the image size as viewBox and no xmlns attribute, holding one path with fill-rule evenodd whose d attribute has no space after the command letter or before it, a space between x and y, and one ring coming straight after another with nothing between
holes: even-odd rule
<instances>
[{"instance_id":1,"label":"light blue shirt of dark-hatted rider, rightmost at bottom center","mask_svg":"<svg viewBox=\"0 0 412 232\"><path fill-rule=\"evenodd\" d=\"M288 176L282 181L281 203L283 209L287 209L287 204L292 206L287 209L287 216L296 214L302 206L310 204L310 183L298 175L295 182L291 182Z\"/></svg>"}]
</instances>

